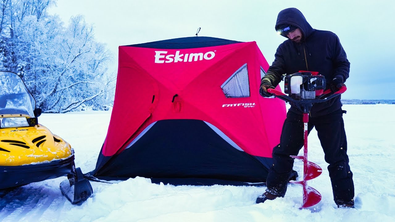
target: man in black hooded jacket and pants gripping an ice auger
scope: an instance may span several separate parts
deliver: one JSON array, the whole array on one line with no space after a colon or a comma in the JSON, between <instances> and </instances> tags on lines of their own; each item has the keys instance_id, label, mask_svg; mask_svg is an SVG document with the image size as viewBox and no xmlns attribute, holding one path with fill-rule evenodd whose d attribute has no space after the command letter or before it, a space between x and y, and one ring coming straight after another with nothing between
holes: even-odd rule
<instances>
[{"instance_id":1,"label":"man in black hooded jacket and pants gripping an ice auger","mask_svg":"<svg viewBox=\"0 0 395 222\"><path fill-rule=\"evenodd\" d=\"M276 31L288 40L281 43L275 60L261 80L260 94L270 97L268 88L280 83L283 74L299 70L318 71L327 80L327 88L336 92L344 86L350 71L350 62L339 38L329 31L313 29L296 8L278 13ZM340 96L327 102L314 103L310 110L308 132L316 128L318 138L329 164L333 197L338 207L354 207L354 182L348 165L347 140ZM273 166L267 176L267 189L256 203L284 197L293 158L303 147L302 112L291 103L281 132L280 144L273 149Z\"/></svg>"}]
</instances>

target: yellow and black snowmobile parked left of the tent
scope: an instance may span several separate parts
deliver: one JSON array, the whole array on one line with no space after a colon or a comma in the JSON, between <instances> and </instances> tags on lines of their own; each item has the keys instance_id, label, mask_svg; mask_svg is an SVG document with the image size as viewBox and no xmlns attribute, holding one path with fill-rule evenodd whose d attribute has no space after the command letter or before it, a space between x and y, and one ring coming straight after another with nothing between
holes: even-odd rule
<instances>
[{"instance_id":1,"label":"yellow and black snowmobile parked left of the tent","mask_svg":"<svg viewBox=\"0 0 395 222\"><path fill-rule=\"evenodd\" d=\"M38 123L41 109L19 75L0 71L0 190L66 176L62 194L73 204L93 193L74 150Z\"/></svg>"}]
</instances>

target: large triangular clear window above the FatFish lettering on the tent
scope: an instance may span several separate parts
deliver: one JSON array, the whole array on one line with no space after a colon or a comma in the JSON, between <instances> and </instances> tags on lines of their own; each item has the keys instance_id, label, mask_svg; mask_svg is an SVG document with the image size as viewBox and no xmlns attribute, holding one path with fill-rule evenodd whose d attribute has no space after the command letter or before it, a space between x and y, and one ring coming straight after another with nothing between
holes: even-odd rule
<instances>
[{"instance_id":1,"label":"large triangular clear window above the FatFish lettering on the tent","mask_svg":"<svg viewBox=\"0 0 395 222\"><path fill-rule=\"evenodd\" d=\"M241 66L221 86L227 98L250 97L247 64Z\"/></svg>"}]
</instances>

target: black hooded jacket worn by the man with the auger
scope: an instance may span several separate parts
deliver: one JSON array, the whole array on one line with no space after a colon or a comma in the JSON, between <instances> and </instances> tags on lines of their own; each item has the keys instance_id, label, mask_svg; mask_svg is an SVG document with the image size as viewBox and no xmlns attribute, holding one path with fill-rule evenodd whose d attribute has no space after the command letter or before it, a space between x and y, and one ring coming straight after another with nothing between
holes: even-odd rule
<instances>
[{"instance_id":1,"label":"black hooded jacket worn by the man with the auger","mask_svg":"<svg viewBox=\"0 0 395 222\"><path fill-rule=\"evenodd\" d=\"M292 24L299 28L303 34L302 41L296 43L288 39L281 43L277 48L275 60L262 81L269 80L276 86L282 80L283 74L289 75L299 70L318 71L325 76L327 88L335 78L342 79L343 83L346 81L350 72L350 62L336 34L313 29L296 8L287 8L278 13L276 30L282 24ZM310 115L325 115L341 106L340 96L337 96L327 102L314 103ZM301 113L292 103L290 111Z\"/></svg>"}]
</instances>

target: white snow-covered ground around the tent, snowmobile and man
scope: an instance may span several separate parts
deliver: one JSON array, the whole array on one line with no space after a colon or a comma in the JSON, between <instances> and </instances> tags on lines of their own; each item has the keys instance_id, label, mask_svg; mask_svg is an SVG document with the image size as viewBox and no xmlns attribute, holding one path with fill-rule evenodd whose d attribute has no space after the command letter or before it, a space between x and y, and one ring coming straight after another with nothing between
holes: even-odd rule
<instances>
[{"instance_id":1,"label":"white snow-covered ground around the tent, snowmobile and man","mask_svg":"<svg viewBox=\"0 0 395 222\"><path fill-rule=\"evenodd\" d=\"M395 105L344 105L356 209L337 209L327 164L313 130L309 160L323 168L308 184L322 194L316 212L299 210L302 189L255 204L264 187L172 186L137 177L115 184L91 182L94 194L71 205L59 190L66 177L0 191L0 220L17 221L395 221ZM84 173L94 169L111 112L43 114L39 122L68 141ZM302 175L301 163L296 164Z\"/></svg>"}]
</instances>

